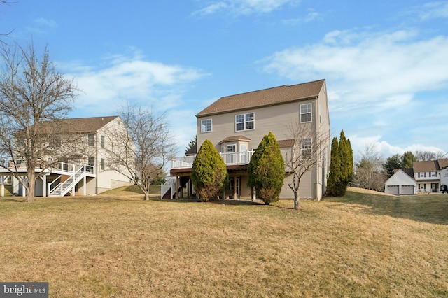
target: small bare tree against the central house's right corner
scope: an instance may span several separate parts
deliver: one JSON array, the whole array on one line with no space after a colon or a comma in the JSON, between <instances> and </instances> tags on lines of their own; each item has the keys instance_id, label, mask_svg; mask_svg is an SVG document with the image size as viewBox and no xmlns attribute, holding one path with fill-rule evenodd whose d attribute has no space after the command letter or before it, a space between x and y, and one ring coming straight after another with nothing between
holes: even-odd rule
<instances>
[{"instance_id":1,"label":"small bare tree against the central house's right corner","mask_svg":"<svg viewBox=\"0 0 448 298\"><path fill-rule=\"evenodd\" d=\"M300 208L300 182L303 176L321 166L323 148L328 149L330 136L328 132L313 132L311 123L294 123L288 127L293 140L293 148L285 158L285 169L292 173L293 182L288 186L294 193L294 208ZM323 131L323 129L322 129ZM328 158L328 157L327 157Z\"/></svg>"}]
</instances>

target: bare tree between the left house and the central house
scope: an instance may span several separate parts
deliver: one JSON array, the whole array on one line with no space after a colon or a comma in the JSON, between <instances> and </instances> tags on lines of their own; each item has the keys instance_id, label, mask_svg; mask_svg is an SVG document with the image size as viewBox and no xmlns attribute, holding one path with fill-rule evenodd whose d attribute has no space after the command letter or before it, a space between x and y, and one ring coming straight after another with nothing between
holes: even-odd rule
<instances>
[{"instance_id":1,"label":"bare tree between the left house and the central house","mask_svg":"<svg viewBox=\"0 0 448 298\"><path fill-rule=\"evenodd\" d=\"M132 180L149 199L150 185L164 175L174 157L174 139L166 115L155 115L141 107L129 106L120 112L127 129L109 132L109 166Z\"/></svg>"}]
</instances>

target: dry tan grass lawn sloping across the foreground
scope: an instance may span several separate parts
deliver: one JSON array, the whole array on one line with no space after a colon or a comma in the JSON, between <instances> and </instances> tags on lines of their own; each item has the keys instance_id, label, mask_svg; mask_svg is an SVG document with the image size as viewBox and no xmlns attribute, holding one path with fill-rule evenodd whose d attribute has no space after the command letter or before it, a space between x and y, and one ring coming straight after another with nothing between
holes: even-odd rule
<instances>
[{"instance_id":1,"label":"dry tan grass lawn sloping across the foreground","mask_svg":"<svg viewBox=\"0 0 448 298\"><path fill-rule=\"evenodd\" d=\"M0 281L51 297L448 296L448 196L0 202ZM227 201L225 202L227 203Z\"/></svg>"}]
</instances>

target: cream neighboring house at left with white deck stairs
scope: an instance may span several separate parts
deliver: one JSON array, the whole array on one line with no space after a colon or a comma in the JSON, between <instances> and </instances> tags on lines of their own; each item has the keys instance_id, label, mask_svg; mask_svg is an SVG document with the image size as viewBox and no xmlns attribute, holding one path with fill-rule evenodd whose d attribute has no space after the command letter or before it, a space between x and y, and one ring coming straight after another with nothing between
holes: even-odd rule
<instances>
[{"instance_id":1,"label":"cream neighboring house at left with white deck stairs","mask_svg":"<svg viewBox=\"0 0 448 298\"><path fill-rule=\"evenodd\" d=\"M130 185L130 179L108 167L108 150L111 150L110 132L126 129L118 116L71 118L62 120L71 127L69 134L85 142L78 155L77 164L61 162L50 169L36 169L41 174L36 180L34 195L37 197L64 195L95 195L116 187ZM10 168L13 169L13 168ZM18 173L26 180L25 164L18 168ZM13 178L7 169L0 169L1 196L4 195L6 181L13 184L15 195L25 196L25 187L18 179Z\"/></svg>"}]
</instances>

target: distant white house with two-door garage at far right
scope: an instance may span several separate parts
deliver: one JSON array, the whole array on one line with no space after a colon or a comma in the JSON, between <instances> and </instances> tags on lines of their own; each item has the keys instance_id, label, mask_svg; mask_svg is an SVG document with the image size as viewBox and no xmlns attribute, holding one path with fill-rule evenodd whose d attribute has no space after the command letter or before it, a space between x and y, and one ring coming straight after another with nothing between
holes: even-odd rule
<instances>
[{"instance_id":1,"label":"distant white house with two-door garage at far right","mask_svg":"<svg viewBox=\"0 0 448 298\"><path fill-rule=\"evenodd\" d=\"M414 162L412 169L395 169L385 183L387 194L437 193L448 185L448 159Z\"/></svg>"}]
</instances>

